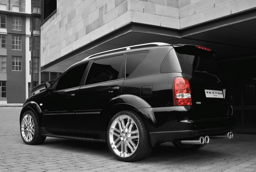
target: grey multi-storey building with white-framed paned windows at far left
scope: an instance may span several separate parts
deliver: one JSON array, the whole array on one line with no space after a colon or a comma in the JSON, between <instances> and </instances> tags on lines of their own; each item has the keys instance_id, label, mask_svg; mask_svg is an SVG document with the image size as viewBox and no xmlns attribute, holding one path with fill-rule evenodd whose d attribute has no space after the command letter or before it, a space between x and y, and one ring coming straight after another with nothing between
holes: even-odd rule
<instances>
[{"instance_id":1,"label":"grey multi-storey building with white-framed paned windows at far left","mask_svg":"<svg viewBox=\"0 0 256 172\"><path fill-rule=\"evenodd\" d=\"M29 96L30 1L0 1L0 104Z\"/></svg>"}]
</instances>

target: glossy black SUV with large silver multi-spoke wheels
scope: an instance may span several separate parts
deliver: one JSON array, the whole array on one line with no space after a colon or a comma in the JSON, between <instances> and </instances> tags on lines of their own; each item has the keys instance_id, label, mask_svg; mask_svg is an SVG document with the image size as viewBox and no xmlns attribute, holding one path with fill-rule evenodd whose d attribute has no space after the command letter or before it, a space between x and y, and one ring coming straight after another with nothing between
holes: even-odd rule
<instances>
[{"instance_id":1,"label":"glossy black SUV with large silver multi-spoke wheels","mask_svg":"<svg viewBox=\"0 0 256 172\"><path fill-rule=\"evenodd\" d=\"M230 87L211 49L150 43L114 49L69 67L20 113L26 144L46 137L106 142L121 161L172 141L195 150L232 138Z\"/></svg>"}]
</instances>

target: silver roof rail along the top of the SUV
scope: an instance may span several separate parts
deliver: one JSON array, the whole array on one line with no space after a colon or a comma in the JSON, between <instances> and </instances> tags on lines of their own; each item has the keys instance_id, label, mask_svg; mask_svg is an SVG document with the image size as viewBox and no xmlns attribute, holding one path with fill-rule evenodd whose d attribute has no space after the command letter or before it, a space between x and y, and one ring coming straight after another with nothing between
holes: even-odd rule
<instances>
[{"instance_id":1,"label":"silver roof rail along the top of the SUV","mask_svg":"<svg viewBox=\"0 0 256 172\"><path fill-rule=\"evenodd\" d=\"M92 58L94 56L103 55L105 53L110 53L110 52L118 52L118 51L125 51L125 50L130 50L130 49L135 49L135 48L153 47L153 46L160 46L160 45L170 45L170 44L166 44L166 43L147 43L147 44L132 45L132 46L129 46L129 47L111 49L111 50L108 50L108 51L103 51L103 52L100 52L100 53L96 53L94 55L91 55L91 56L88 56L88 57L84 58L83 60Z\"/></svg>"}]
</instances>

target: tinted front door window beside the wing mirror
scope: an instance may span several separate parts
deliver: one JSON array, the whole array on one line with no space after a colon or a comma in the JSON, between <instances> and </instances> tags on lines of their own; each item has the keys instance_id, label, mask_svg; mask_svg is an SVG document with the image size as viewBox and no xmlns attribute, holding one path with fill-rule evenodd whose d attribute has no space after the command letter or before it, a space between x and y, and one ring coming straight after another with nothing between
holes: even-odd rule
<instances>
[{"instance_id":1,"label":"tinted front door window beside the wing mirror","mask_svg":"<svg viewBox=\"0 0 256 172\"><path fill-rule=\"evenodd\" d=\"M78 65L64 73L64 75L59 79L55 91L78 87L87 65L88 63Z\"/></svg>"}]
</instances>

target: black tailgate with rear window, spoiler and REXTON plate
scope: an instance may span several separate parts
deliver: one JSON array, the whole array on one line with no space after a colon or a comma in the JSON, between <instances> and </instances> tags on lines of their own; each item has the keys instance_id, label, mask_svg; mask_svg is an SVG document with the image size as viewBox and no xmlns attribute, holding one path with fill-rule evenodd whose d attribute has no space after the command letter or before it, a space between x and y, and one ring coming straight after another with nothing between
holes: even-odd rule
<instances>
[{"instance_id":1,"label":"black tailgate with rear window, spoiler and REXTON plate","mask_svg":"<svg viewBox=\"0 0 256 172\"><path fill-rule=\"evenodd\" d=\"M184 77L191 86L191 119L230 116L230 87L210 49L195 45L174 47Z\"/></svg>"}]
</instances>

